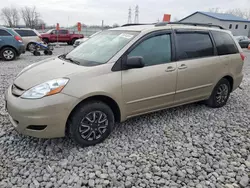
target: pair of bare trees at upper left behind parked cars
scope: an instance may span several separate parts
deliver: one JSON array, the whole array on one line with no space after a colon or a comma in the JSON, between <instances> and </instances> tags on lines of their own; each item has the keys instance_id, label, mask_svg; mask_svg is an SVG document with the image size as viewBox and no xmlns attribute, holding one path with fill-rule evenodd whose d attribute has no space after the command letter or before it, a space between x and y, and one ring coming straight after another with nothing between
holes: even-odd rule
<instances>
[{"instance_id":1,"label":"pair of bare trees at upper left behind parked cars","mask_svg":"<svg viewBox=\"0 0 250 188\"><path fill-rule=\"evenodd\" d=\"M45 24L35 6L21 9L5 7L1 9L0 16L8 27L18 27L21 19L26 27L32 29L41 29Z\"/></svg>"}]
</instances>

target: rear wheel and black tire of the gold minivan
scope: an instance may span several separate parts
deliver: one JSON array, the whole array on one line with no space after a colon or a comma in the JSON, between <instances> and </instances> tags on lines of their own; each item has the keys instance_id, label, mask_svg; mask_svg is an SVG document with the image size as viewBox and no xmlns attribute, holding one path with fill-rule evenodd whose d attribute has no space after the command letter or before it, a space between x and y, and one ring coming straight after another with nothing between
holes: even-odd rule
<instances>
[{"instance_id":1,"label":"rear wheel and black tire of the gold minivan","mask_svg":"<svg viewBox=\"0 0 250 188\"><path fill-rule=\"evenodd\" d=\"M206 101L206 105L211 108L220 108L226 105L231 92L229 81L222 78L214 87L210 98Z\"/></svg>"}]
</instances>

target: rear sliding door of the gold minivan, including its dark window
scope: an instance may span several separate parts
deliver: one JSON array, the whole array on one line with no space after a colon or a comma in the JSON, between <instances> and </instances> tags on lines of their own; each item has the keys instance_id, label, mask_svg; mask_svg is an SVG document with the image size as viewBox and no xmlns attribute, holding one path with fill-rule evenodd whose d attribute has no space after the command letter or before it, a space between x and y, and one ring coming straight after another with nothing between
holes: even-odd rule
<instances>
[{"instance_id":1,"label":"rear sliding door of the gold minivan, including its dark window","mask_svg":"<svg viewBox=\"0 0 250 188\"><path fill-rule=\"evenodd\" d=\"M175 103L209 97L222 66L220 58L215 56L209 32L178 31L176 46L178 79Z\"/></svg>"}]
</instances>

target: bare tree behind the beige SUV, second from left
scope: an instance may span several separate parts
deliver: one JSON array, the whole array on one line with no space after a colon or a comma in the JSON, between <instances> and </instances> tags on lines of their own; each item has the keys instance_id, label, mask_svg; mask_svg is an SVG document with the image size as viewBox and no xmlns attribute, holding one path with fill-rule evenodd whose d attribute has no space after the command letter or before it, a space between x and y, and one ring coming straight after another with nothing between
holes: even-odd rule
<instances>
[{"instance_id":1,"label":"bare tree behind the beige SUV, second from left","mask_svg":"<svg viewBox=\"0 0 250 188\"><path fill-rule=\"evenodd\" d=\"M24 7L21 9L21 14L26 27L34 29L39 23L40 14L37 12L36 7Z\"/></svg>"}]
</instances>

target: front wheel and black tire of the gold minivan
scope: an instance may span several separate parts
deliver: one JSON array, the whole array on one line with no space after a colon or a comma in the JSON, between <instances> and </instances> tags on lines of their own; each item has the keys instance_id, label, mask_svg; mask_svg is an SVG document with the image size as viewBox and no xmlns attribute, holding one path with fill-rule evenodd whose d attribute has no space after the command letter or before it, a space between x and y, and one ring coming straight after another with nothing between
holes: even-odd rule
<instances>
[{"instance_id":1,"label":"front wheel and black tire of the gold minivan","mask_svg":"<svg viewBox=\"0 0 250 188\"><path fill-rule=\"evenodd\" d=\"M101 120L106 121L100 122ZM114 123L114 113L108 105L100 101L90 101L78 106L71 114L67 125L68 134L82 147L93 146L111 134Z\"/></svg>"}]
</instances>

